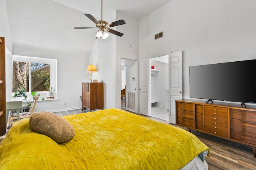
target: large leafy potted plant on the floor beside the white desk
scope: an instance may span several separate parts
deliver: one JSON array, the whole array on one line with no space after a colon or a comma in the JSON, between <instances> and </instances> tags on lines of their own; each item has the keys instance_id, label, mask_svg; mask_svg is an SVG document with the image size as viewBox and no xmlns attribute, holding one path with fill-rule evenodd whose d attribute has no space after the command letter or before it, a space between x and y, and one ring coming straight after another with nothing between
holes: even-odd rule
<instances>
[{"instance_id":1,"label":"large leafy potted plant on the floor beside the white desk","mask_svg":"<svg viewBox=\"0 0 256 170\"><path fill-rule=\"evenodd\" d=\"M24 107L22 107L22 108L23 108L23 110L24 110L25 112L28 112L28 111L30 110L31 104L34 103L33 98L34 98L34 96L35 96L36 94L38 94L38 96L40 96L40 93L31 92L32 97L31 97L29 100L27 100L28 96L26 95L26 90L22 87L22 88L20 88L17 92L15 92L12 97L13 97L13 98L24 97L25 100L26 100L26 103L25 103L26 106L24 106ZM31 101L31 99L32 99L32 101Z\"/></svg>"}]
</instances>

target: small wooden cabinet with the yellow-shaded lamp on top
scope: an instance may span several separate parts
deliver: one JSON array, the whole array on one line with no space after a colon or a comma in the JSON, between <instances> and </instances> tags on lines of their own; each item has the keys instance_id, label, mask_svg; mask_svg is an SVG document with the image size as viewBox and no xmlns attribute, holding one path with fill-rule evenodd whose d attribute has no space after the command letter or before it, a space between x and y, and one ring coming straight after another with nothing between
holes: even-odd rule
<instances>
[{"instance_id":1,"label":"small wooden cabinet with the yellow-shaded lamp on top","mask_svg":"<svg viewBox=\"0 0 256 170\"><path fill-rule=\"evenodd\" d=\"M82 83L82 110L88 108L90 111L103 109L104 107L104 84Z\"/></svg>"}]
</instances>

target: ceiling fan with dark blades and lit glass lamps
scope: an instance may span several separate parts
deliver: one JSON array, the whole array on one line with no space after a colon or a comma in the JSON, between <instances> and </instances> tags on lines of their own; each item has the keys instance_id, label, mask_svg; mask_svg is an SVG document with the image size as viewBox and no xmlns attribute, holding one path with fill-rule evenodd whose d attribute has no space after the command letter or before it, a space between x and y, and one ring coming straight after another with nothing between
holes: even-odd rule
<instances>
[{"instance_id":1,"label":"ceiling fan with dark blades and lit glass lamps","mask_svg":"<svg viewBox=\"0 0 256 170\"><path fill-rule=\"evenodd\" d=\"M118 25L125 24L124 20L118 20L118 21L114 21L114 22L111 22L111 23L107 23L106 21L102 20L102 0L101 0L101 20L100 21L97 21L90 14L84 14L84 15L87 16L94 23L96 23L96 27L74 27L74 29L99 28L100 30L97 32L97 34L95 36L96 36L96 38L102 38L102 39L106 39L109 36L109 34L107 32L118 35L120 37L122 37L124 35L123 33L120 33L118 31L110 29L110 27L115 27L115 26L118 26Z\"/></svg>"}]
</instances>

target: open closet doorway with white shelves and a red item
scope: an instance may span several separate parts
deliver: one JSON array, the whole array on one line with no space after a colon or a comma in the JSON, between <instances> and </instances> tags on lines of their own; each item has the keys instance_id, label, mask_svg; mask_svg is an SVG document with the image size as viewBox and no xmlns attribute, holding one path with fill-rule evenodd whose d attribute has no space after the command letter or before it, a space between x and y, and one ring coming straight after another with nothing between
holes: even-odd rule
<instances>
[{"instance_id":1,"label":"open closet doorway with white shelves and a red item","mask_svg":"<svg viewBox=\"0 0 256 170\"><path fill-rule=\"evenodd\" d=\"M168 66L169 56L150 59L150 116L169 120Z\"/></svg>"}]
</instances>

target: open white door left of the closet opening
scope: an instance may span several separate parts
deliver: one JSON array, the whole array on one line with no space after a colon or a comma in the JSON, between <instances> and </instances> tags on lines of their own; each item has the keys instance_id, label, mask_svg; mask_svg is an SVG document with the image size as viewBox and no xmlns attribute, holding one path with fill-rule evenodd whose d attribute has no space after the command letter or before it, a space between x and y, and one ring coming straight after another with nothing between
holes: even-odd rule
<instances>
[{"instance_id":1,"label":"open white door left of the closet opening","mask_svg":"<svg viewBox=\"0 0 256 170\"><path fill-rule=\"evenodd\" d=\"M148 67L149 59L140 59L140 73L139 73L139 113L149 116L149 98L148 98Z\"/></svg>"}]
</instances>

